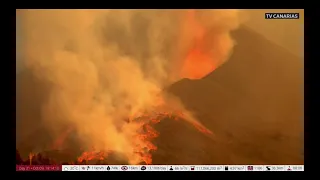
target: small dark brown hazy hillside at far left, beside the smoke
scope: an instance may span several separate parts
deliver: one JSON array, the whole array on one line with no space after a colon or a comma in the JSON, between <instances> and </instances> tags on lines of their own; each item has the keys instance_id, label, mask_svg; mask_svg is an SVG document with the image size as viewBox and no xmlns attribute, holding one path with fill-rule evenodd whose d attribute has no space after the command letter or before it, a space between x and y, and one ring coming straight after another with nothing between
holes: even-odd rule
<instances>
[{"instance_id":1,"label":"small dark brown hazy hillside at far left, beside the smoke","mask_svg":"<svg viewBox=\"0 0 320 180\"><path fill-rule=\"evenodd\" d=\"M49 88L29 69L16 75L16 87L16 146L25 158L49 139L41 123L41 106Z\"/></svg>"}]
</instances>

